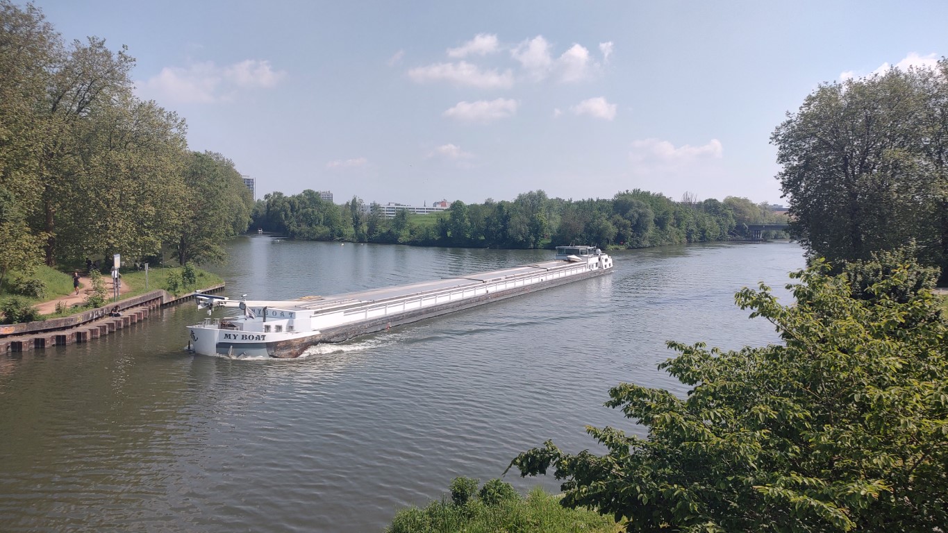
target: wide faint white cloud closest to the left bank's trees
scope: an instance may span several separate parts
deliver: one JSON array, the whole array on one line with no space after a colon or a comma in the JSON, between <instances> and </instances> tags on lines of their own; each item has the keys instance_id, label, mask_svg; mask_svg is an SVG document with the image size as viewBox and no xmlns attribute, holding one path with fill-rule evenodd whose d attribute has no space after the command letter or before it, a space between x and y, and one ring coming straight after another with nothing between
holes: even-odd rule
<instances>
[{"instance_id":1,"label":"wide faint white cloud closest to the left bank's trees","mask_svg":"<svg viewBox=\"0 0 948 533\"><path fill-rule=\"evenodd\" d=\"M241 89L271 89L285 77L268 61L246 60L229 66L195 62L188 67L166 66L157 76L137 81L136 93L163 105L227 102L237 98Z\"/></svg>"}]
</instances>

